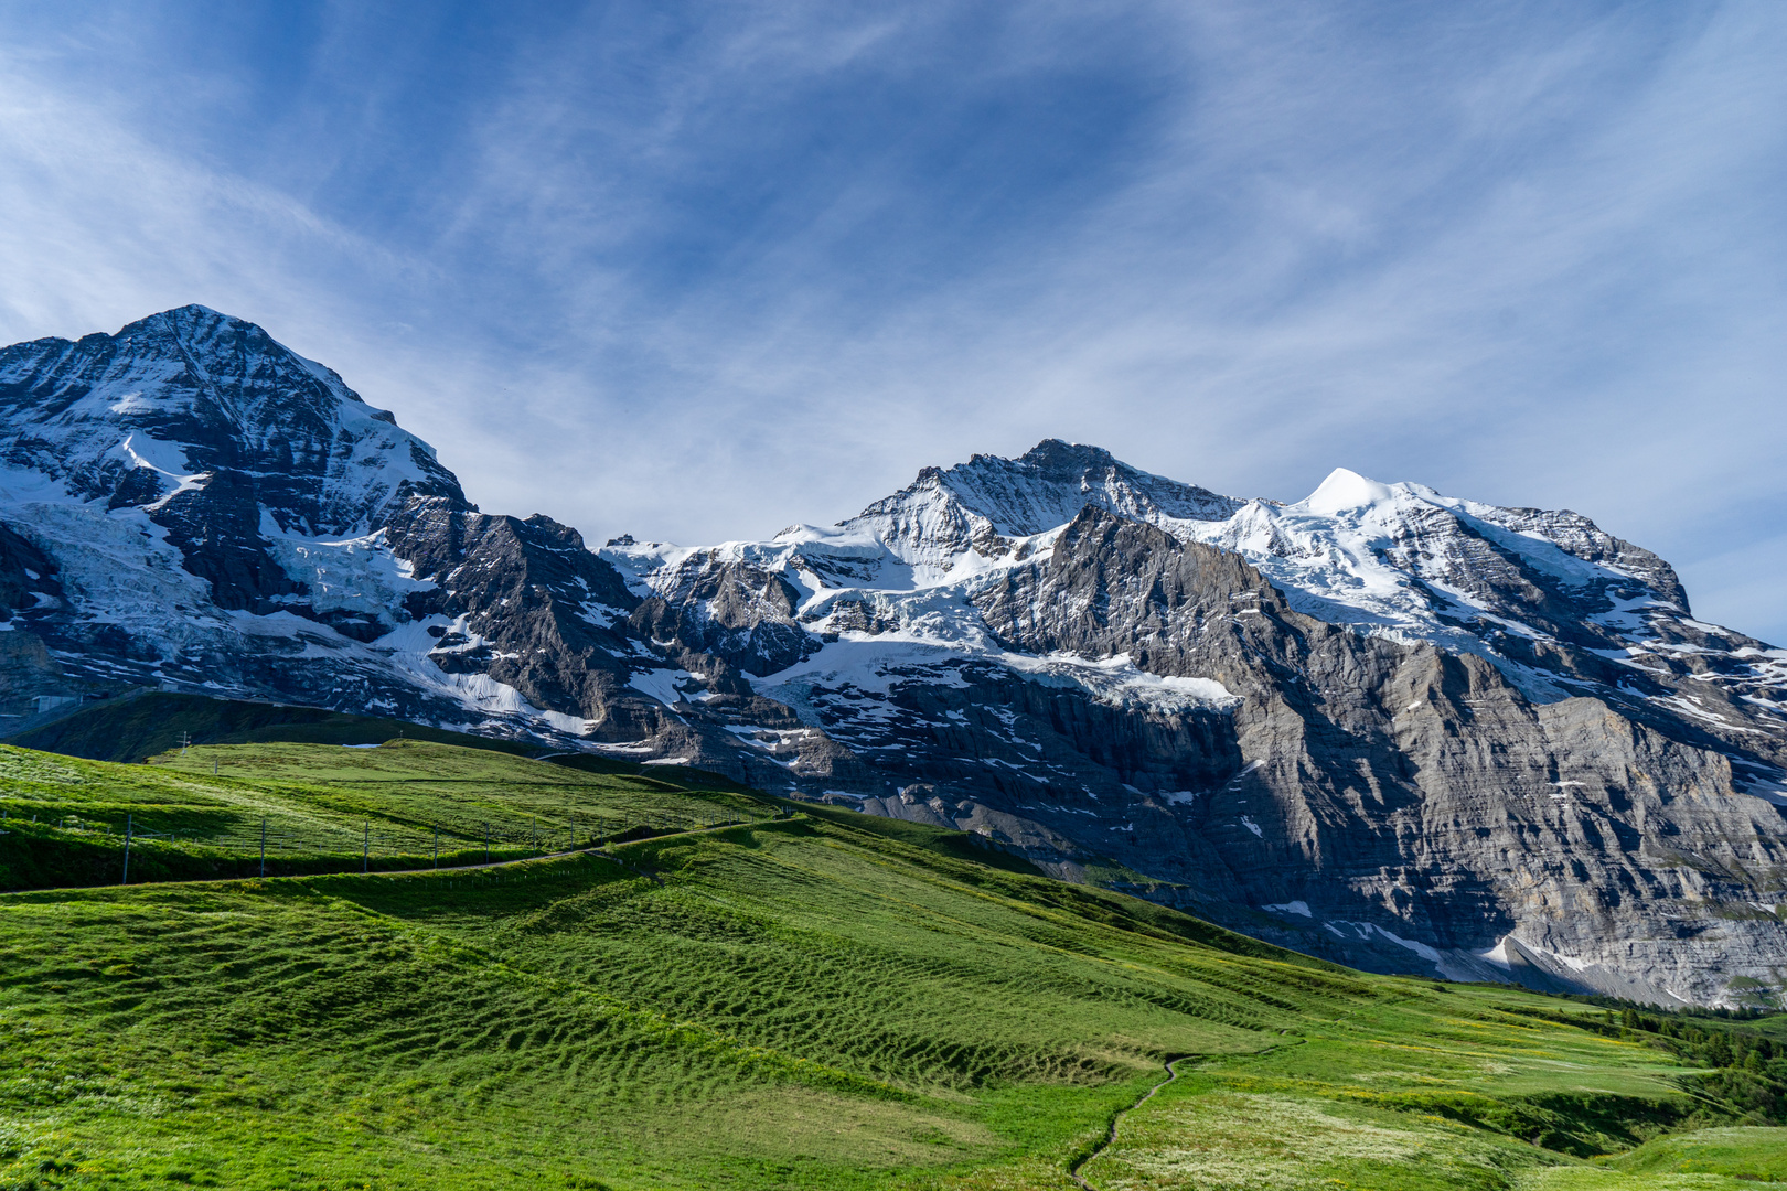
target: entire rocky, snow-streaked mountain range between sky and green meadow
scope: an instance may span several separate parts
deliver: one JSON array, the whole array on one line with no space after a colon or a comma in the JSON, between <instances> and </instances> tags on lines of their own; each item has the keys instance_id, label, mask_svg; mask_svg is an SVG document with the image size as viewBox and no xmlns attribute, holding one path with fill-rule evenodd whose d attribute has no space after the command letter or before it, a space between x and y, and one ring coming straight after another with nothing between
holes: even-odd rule
<instances>
[{"instance_id":1,"label":"entire rocky, snow-streaked mountain range between sky and green meadow","mask_svg":"<svg viewBox=\"0 0 1787 1191\"><path fill-rule=\"evenodd\" d=\"M531 734L1365 968L1787 987L1787 652L1574 512L1045 441L842 525L590 550L202 307L5 348L0 409L14 716L159 686Z\"/></svg>"}]
</instances>

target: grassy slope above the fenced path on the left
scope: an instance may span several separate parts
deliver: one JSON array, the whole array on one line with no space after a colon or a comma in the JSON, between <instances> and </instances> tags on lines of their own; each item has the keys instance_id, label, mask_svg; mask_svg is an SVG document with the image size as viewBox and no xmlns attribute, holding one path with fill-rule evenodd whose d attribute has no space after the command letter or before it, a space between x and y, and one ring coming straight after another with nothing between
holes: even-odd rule
<instances>
[{"instance_id":1,"label":"grassy slope above the fenced path on the left","mask_svg":"<svg viewBox=\"0 0 1787 1191\"><path fill-rule=\"evenodd\" d=\"M441 855L468 862L484 857L486 837L502 859L643 823L768 814L740 795L413 739L220 745L148 766L0 746L0 807L11 832L0 836L0 889L116 882L127 816L132 873L164 880L256 875L263 820L268 873L286 875L357 870L368 837L373 870L427 866L436 829Z\"/></svg>"}]
</instances>

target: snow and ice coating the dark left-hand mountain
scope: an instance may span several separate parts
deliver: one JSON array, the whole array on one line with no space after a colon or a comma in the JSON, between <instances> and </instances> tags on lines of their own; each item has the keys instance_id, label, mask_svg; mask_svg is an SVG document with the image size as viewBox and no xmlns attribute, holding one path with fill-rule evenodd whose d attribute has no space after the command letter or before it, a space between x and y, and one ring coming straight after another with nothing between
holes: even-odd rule
<instances>
[{"instance_id":1,"label":"snow and ice coating the dark left-hand mountain","mask_svg":"<svg viewBox=\"0 0 1787 1191\"><path fill-rule=\"evenodd\" d=\"M409 620L406 596L431 584L391 554L381 518L406 486L456 493L457 482L427 443L366 405L332 370L204 307L166 311L118 336L0 352L0 523L55 559L66 611L82 632L116 629L132 643L130 657L82 655L88 673L264 696L218 682L207 659L320 662L316 673L340 675L343 689L377 677L479 716L586 729L531 707L488 675L449 675L432 662L427 629L443 627L443 618ZM55 375L79 382L43 380ZM170 502L213 482L207 459L252 486L266 555L304 586L281 596L289 607L218 607L211 582L186 570L157 523ZM46 596L36 595L43 605ZM297 611L357 616L370 632L388 632L368 643ZM393 709L388 698L365 698L356 711Z\"/></svg>"}]
</instances>

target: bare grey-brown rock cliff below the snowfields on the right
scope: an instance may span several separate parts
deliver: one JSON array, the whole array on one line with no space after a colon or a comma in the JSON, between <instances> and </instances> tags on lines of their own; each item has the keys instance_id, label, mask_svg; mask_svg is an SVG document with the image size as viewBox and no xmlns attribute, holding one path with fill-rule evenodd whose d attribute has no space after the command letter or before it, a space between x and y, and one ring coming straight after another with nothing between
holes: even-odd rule
<instances>
[{"instance_id":1,"label":"bare grey-brown rock cliff below the snowfields on the right","mask_svg":"<svg viewBox=\"0 0 1787 1191\"><path fill-rule=\"evenodd\" d=\"M1240 696L1226 720L1247 766L1169 798L1199 841L1176 848L1179 880L1306 920L1278 937L1330 930L1344 954L1346 934L1388 929L1456 979L1517 957L1644 1000L1705 996L1733 961L1780 966L1755 891L1787 884L1787 834L1717 748L1297 614L1237 555L1092 509L976 604L1013 648L1128 654Z\"/></svg>"}]
</instances>

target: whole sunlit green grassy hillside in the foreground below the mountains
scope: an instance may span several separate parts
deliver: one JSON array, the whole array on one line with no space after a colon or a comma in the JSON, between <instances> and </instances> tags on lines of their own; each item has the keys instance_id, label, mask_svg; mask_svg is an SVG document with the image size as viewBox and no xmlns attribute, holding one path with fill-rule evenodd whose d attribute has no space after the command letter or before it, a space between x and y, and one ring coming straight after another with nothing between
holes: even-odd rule
<instances>
[{"instance_id":1,"label":"whole sunlit green grassy hillside in the foreground below the mountains","mask_svg":"<svg viewBox=\"0 0 1787 1191\"><path fill-rule=\"evenodd\" d=\"M1344 971L954 832L418 743L0 762L39 827L754 816L502 868L0 896L0 1187L1782 1177L1773 1052L1712 1071L1601 1007Z\"/></svg>"}]
</instances>

